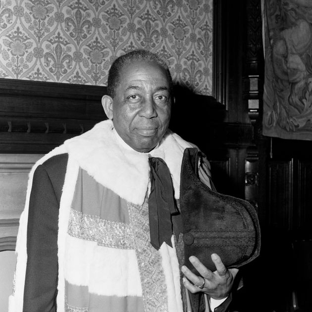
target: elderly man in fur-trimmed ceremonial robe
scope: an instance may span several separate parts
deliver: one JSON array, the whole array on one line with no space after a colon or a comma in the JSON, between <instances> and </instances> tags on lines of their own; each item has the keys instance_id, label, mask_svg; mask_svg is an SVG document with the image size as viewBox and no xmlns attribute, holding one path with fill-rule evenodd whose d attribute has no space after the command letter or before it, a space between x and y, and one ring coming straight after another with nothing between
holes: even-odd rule
<instances>
[{"instance_id":1,"label":"elderly man in fur-trimmed ceremonial robe","mask_svg":"<svg viewBox=\"0 0 312 312\"><path fill-rule=\"evenodd\" d=\"M171 89L156 54L117 58L102 99L108 120L36 163L10 312L191 311L189 292L205 295L206 311L227 311L237 269L215 254L215 272L194 256L197 275L182 265L176 204L192 145L168 130ZM161 213L159 194L168 206Z\"/></svg>"}]
</instances>

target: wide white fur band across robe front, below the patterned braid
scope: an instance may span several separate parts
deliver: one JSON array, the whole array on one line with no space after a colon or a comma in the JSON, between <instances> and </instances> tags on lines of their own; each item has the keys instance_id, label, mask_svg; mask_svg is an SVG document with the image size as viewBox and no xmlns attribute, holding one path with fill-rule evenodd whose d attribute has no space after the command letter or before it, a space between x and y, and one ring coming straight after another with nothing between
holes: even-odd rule
<instances>
[{"instance_id":1,"label":"wide white fur band across robe front, below the patterned braid","mask_svg":"<svg viewBox=\"0 0 312 312\"><path fill-rule=\"evenodd\" d=\"M89 286L89 291L97 295L142 297L134 250L97 246L96 242L69 235L66 246L65 279L70 284Z\"/></svg>"}]
</instances>

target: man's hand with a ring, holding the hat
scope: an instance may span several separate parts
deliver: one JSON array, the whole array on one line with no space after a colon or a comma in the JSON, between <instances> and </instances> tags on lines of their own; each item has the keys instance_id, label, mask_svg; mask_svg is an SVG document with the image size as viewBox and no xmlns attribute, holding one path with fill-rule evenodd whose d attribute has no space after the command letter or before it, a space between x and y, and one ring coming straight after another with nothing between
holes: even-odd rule
<instances>
[{"instance_id":1,"label":"man's hand with a ring, holding the hat","mask_svg":"<svg viewBox=\"0 0 312 312\"><path fill-rule=\"evenodd\" d=\"M191 293L194 294L201 291L213 299L223 299L229 295L234 278L238 272L237 268L227 269L217 254L211 255L211 260L216 267L214 272L210 271L195 256L191 256L189 259L200 275L192 273L185 265L182 266L182 272L185 275L183 284ZM204 279L204 287L200 288L199 286L203 285Z\"/></svg>"}]
</instances>

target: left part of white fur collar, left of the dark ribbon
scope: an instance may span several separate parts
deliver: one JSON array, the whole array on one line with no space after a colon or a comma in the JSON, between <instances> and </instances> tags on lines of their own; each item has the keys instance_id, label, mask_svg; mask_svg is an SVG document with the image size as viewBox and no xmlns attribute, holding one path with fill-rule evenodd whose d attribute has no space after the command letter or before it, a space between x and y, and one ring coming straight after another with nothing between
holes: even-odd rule
<instances>
[{"instance_id":1,"label":"left part of white fur collar, left of the dark ribbon","mask_svg":"<svg viewBox=\"0 0 312 312\"><path fill-rule=\"evenodd\" d=\"M64 144L97 182L121 198L141 205L149 182L148 156L132 149L126 151L112 130L111 120L105 120Z\"/></svg>"}]
</instances>

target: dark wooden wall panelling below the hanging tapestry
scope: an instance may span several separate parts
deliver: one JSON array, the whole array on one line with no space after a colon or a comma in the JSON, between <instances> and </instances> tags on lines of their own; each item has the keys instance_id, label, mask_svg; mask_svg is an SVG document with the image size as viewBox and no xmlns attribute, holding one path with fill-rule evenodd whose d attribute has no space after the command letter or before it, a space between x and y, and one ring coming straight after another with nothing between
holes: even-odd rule
<instances>
[{"instance_id":1,"label":"dark wooden wall panelling below the hanging tapestry","mask_svg":"<svg viewBox=\"0 0 312 312\"><path fill-rule=\"evenodd\" d=\"M312 235L312 142L275 139L267 157L265 225ZM263 186L261 186L263 192ZM310 233L310 234L309 234Z\"/></svg>"}]
</instances>

